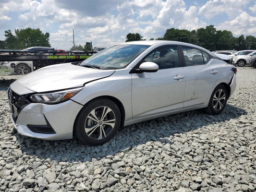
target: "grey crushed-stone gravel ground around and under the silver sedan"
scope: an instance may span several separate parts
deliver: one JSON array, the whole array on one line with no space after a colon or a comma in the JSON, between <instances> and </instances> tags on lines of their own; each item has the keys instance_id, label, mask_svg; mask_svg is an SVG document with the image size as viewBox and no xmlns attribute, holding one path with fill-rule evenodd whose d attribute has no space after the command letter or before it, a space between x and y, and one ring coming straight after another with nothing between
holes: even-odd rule
<instances>
[{"instance_id":1,"label":"grey crushed-stone gravel ground around and under the silver sedan","mask_svg":"<svg viewBox=\"0 0 256 192\"><path fill-rule=\"evenodd\" d=\"M194 110L120 130L109 143L19 135L0 76L1 192L255 192L256 69L238 67L237 89L216 116Z\"/></svg>"}]
</instances>

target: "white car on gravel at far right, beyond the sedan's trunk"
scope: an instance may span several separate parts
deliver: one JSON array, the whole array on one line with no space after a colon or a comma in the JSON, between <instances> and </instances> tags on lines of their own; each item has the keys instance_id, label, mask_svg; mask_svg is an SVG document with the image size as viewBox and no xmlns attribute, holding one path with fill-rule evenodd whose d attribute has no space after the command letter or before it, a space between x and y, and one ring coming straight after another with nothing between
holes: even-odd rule
<instances>
[{"instance_id":1,"label":"white car on gravel at far right, beyond the sedan's trunk","mask_svg":"<svg viewBox=\"0 0 256 192\"><path fill-rule=\"evenodd\" d=\"M247 54L246 54L247 53ZM250 60L252 57L256 56L256 50L244 50L235 54L233 57L233 65L237 65L239 67L244 67L244 65L250 64Z\"/></svg>"}]
</instances>

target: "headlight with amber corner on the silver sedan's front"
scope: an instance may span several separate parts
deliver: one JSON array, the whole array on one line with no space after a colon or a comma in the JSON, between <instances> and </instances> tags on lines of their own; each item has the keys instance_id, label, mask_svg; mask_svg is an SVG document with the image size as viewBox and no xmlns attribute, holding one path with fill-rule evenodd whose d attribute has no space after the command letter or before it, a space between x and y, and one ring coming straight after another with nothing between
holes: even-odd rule
<instances>
[{"instance_id":1,"label":"headlight with amber corner on the silver sedan's front","mask_svg":"<svg viewBox=\"0 0 256 192\"><path fill-rule=\"evenodd\" d=\"M46 104L56 104L61 103L75 96L82 88L69 89L65 91L44 93L44 94L34 94L30 96L30 99L35 103L46 103Z\"/></svg>"}]
</instances>

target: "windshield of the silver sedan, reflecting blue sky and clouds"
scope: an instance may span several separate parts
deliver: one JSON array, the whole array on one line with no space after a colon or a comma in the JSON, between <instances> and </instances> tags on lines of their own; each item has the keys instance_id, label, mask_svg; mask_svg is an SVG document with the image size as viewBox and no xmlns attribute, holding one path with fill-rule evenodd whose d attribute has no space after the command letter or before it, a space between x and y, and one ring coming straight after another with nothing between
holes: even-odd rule
<instances>
[{"instance_id":1,"label":"windshield of the silver sedan, reflecting blue sky and clouds","mask_svg":"<svg viewBox=\"0 0 256 192\"><path fill-rule=\"evenodd\" d=\"M148 47L150 46L115 45L84 60L80 66L94 66L100 69L121 69L127 66Z\"/></svg>"}]
</instances>

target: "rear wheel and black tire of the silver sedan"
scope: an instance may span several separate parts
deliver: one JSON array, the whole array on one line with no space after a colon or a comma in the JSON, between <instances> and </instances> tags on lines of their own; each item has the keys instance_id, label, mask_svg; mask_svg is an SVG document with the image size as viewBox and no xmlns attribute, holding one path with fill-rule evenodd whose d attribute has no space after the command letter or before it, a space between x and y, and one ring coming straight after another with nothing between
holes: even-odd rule
<instances>
[{"instance_id":1,"label":"rear wheel and black tire of the silver sedan","mask_svg":"<svg viewBox=\"0 0 256 192\"><path fill-rule=\"evenodd\" d=\"M219 114L225 108L228 92L224 85L219 84L212 92L206 112L212 115Z\"/></svg>"}]
</instances>

